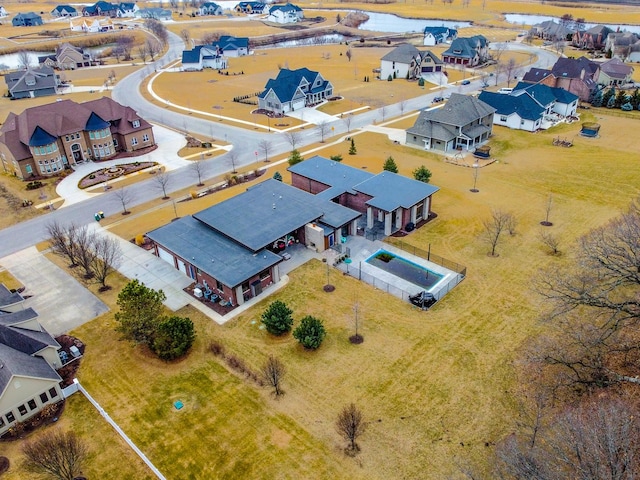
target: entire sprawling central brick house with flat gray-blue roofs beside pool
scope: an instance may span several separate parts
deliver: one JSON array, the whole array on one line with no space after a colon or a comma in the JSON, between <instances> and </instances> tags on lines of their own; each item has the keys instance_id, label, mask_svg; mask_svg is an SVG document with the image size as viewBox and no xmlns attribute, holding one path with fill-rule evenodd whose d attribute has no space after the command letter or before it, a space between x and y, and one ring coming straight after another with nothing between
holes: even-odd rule
<instances>
[{"instance_id":1,"label":"entire sprawling central brick house with flat gray-blue roofs beside pool","mask_svg":"<svg viewBox=\"0 0 640 480\"><path fill-rule=\"evenodd\" d=\"M280 281L280 255L296 245L322 252L384 225L385 235L429 218L438 187L391 172L377 175L322 157L147 233L154 253L233 305Z\"/></svg>"}]
</instances>

